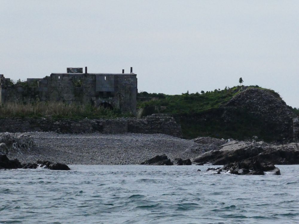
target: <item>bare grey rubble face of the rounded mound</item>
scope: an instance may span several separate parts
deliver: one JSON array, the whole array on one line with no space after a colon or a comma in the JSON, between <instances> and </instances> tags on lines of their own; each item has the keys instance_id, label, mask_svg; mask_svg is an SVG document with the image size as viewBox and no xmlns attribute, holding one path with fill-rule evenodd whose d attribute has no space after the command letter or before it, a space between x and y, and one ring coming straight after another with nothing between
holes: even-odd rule
<instances>
[{"instance_id":1,"label":"bare grey rubble face of the rounded mound","mask_svg":"<svg viewBox=\"0 0 299 224\"><path fill-rule=\"evenodd\" d=\"M280 141L293 139L293 119L297 116L272 90L248 88L221 107L227 124L250 119L252 124L260 125L265 136L272 135Z\"/></svg>"}]
</instances>

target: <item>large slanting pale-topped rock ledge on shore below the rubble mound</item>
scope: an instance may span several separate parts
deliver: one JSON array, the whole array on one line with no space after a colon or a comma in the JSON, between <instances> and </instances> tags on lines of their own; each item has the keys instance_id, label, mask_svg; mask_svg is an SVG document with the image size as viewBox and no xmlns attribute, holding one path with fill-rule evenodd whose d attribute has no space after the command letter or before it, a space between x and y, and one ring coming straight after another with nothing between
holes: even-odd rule
<instances>
[{"instance_id":1,"label":"large slanting pale-topped rock ledge on shore below the rubble mound","mask_svg":"<svg viewBox=\"0 0 299 224\"><path fill-rule=\"evenodd\" d=\"M241 162L244 159L257 160L265 164L299 164L299 146L298 143L273 145L263 141L230 141L218 149L206 152L192 160L198 163L225 165Z\"/></svg>"}]
</instances>

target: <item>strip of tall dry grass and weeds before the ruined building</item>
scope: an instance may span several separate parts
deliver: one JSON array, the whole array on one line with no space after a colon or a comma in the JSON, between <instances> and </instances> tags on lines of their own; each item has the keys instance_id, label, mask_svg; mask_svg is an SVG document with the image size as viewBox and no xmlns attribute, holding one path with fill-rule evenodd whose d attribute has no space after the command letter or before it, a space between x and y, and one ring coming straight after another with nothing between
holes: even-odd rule
<instances>
[{"instance_id":1,"label":"strip of tall dry grass and weeds before the ruined building","mask_svg":"<svg viewBox=\"0 0 299 224\"><path fill-rule=\"evenodd\" d=\"M129 117L119 110L109 110L92 105L67 104L63 102L35 102L29 104L5 103L0 106L0 117L51 117L53 119L96 119Z\"/></svg>"}]
</instances>

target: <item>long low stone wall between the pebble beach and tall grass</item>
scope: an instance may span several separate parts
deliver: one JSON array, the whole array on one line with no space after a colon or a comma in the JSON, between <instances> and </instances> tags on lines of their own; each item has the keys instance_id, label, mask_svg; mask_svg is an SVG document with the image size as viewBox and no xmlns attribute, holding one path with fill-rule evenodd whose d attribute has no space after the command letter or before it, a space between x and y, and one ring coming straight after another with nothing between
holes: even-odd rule
<instances>
[{"instance_id":1,"label":"long low stone wall between the pebble beach and tall grass","mask_svg":"<svg viewBox=\"0 0 299 224\"><path fill-rule=\"evenodd\" d=\"M58 133L120 134L144 133L167 134L181 137L181 126L172 117L146 117L143 119L64 119L54 121L46 118L5 118L0 119L0 132L55 131Z\"/></svg>"}]
</instances>

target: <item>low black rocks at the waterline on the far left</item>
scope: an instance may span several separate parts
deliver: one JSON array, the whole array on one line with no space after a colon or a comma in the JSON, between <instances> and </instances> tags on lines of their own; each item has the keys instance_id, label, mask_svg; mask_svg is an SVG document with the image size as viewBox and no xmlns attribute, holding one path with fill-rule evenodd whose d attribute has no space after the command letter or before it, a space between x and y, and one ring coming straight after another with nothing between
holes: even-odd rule
<instances>
[{"instance_id":1,"label":"low black rocks at the waterline on the far left","mask_svg":"<svg viewBox=\"0 0 299 224\"><path fill-rule=\"evenodd\" d=\"M50 170L70 170L70 168L61 163L49 161L37 161L36 163L21 164L18 159L8 159L6 155L0 154L0 169L36 169L38 167L48 168Z\"/></svg>"}]
</instances>

